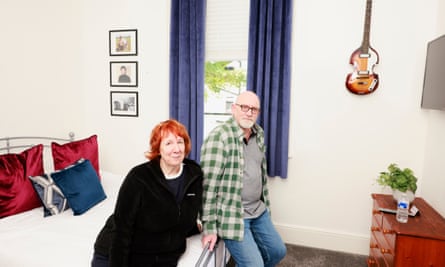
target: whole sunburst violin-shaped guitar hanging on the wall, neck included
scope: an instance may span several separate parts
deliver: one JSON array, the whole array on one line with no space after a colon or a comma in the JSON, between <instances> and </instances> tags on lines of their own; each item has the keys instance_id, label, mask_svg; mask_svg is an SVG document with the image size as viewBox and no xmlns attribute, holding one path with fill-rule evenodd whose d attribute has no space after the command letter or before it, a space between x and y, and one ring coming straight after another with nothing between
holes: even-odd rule
<instances>
[{"instance_id":1,"label":"whole sunburst violin-shaped guitar hanging on the wall, neck included","mask_svg":"<svg viewBox=\"0 0 445 267\"><path fill-rule=\"evenodd\" d=\"M357 95L370 94L379 86L379 75L374 72L375 65L379 63L379 54L369 44L371 8L372 0L366 0L362 45L352 53L349 63L354 71L346 77L346 88Z\"/></svg>"}]
</instances>

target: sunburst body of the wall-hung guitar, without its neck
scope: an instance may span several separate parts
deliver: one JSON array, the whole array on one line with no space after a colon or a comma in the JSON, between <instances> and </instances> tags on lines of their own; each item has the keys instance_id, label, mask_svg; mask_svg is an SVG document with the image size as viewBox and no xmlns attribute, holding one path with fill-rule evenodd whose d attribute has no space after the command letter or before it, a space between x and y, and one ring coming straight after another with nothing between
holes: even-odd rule
<instances>
[{"instance_id":1,"label":"sunburst body of the wall-hung guitar, without its neck","mask_svg":"<svg viewBox=\"0 0 445 267\"><path fill-rule=\"evenodd\" d=\"M352 53L349 63L354 71L346 77L346 88L354 94L366 95L374 92L379 86L379 75L374 67L379 63L379 54L372 47L368 53L362 53L361 48Z\"/></svg>"}]
</instances>

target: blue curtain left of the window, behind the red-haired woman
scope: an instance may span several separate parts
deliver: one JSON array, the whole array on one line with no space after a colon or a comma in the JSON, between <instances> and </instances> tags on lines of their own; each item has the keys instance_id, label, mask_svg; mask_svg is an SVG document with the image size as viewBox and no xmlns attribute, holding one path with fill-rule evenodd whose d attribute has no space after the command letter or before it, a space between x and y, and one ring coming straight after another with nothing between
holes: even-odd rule
<instances>
[{"instance_id":1,"label":"blue curtain left of the window, behind the red-haired woman","mask_svg":"<svg viewBox=\"0 0 445 267\"><path fill-rule=\"evenodd\" d=\"M187 127L189 158L199 162L204 129L205 0L172 0L170 118Z\"/></svg>"}]
</instances>

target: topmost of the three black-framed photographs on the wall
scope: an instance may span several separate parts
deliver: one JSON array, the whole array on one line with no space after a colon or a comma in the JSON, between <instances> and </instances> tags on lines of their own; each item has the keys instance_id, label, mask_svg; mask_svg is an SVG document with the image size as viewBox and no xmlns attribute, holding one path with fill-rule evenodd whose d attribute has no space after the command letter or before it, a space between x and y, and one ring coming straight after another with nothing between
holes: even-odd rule
<instances>
[{"instance_id":1,"label":"topmost of the three black-framed photographs on the wall","mask_svg":"<svg viewBox=\"0 0 445 267\"><path fill-rule=\"evenodd\" d=\"M110 56L136 56L138 54L137 30L110 31Z\"/></svg>"}]
</instances>

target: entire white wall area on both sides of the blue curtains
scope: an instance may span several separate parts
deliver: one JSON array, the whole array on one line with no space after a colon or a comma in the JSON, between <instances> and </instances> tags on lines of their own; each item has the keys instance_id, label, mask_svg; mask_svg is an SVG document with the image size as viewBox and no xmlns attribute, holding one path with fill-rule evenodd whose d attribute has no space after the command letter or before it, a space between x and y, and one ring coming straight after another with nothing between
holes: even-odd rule
<instances>
[{"instance_id":1,"label":"entire white wall area on both sides of the blue curtains","mask_svg":"<svg viewBox=\"0 0 445 267\"><path fill-rule=\"evenodd\" d=\"M444 33L440 0L375 0L377 91L349 93L366 1L295 0L289 177L272 178L274 222L290 243L367 254L372 192L389 163L420 178L445 214L443 112L420 109L426 42ZM125 4L123 4L125 3ZM125 174L168 118L169 1L0 2L0 135L99 136L101 166ZM108 31L138 29L136 57L110 57ZM44 40L44 42L41 42ZM109 61L137 60L138 118L111 117ZM438 187L437 185L440 185ZM384 191L387 192L387 191Z\"/></svg>"}]
</instances>

